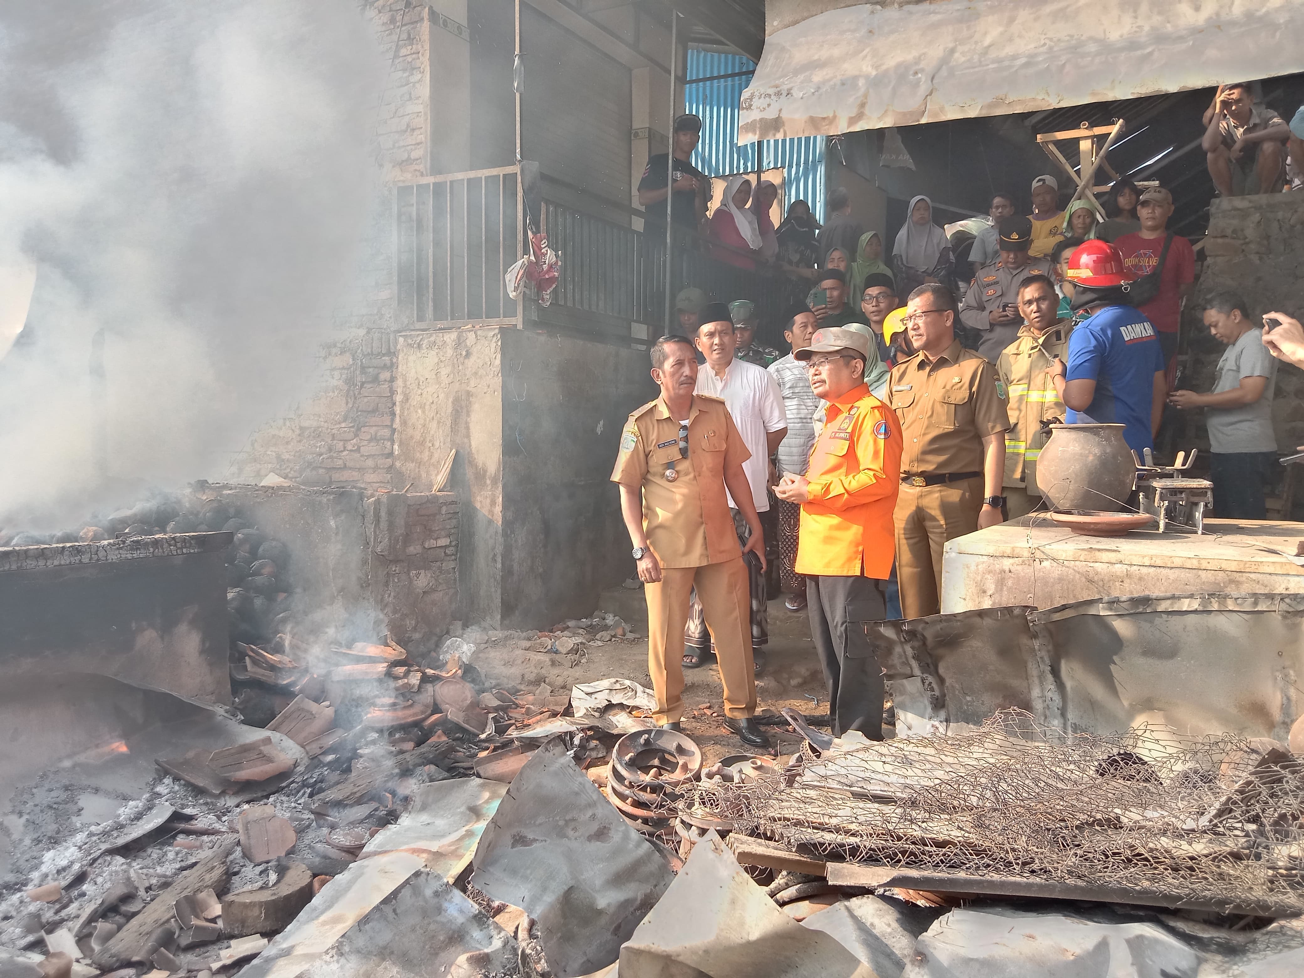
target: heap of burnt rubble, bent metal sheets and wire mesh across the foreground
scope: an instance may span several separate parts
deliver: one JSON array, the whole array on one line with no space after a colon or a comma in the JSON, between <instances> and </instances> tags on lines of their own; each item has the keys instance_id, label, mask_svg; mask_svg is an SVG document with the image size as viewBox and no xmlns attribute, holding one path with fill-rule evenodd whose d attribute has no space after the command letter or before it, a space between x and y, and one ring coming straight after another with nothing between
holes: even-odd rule
<instances>
[{"instance_id":1,"label":"heap of burnt rubble, bent metal sheets and wire mesh across the foreground","mask_svg":"<svg viewBox=\"0 0 1304 978\"><path fill-rule=\"evenodd\" d=\"M798 754L705 764L625 679L477 691L455 655L419 664L393 643L265 655L338 699L300 694L266 730L210 721L233 742L207 752L175 725L155 737L175 750L146 795L4 896L5 974L1266 978L1304 962L1304 769L1284 745L1065 735L1018 713L871 743L792 713ZM436 712L413 720L409 700Z\"/></svg>"}]
</instances>

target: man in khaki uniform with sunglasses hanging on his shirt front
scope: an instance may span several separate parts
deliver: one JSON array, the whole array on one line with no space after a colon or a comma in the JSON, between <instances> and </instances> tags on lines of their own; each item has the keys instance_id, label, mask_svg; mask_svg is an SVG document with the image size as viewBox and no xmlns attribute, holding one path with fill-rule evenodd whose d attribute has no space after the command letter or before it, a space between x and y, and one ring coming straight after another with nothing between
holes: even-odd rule
<instances>
[{"instance_id":1,"label":"man in khaki uniform with sunglasses hanging on his shirt front","mask_svg":"<svg viewBox=\"0 0 1304 978\"><path fill-rule=\"evenodd\" d=\"M720 664L725 726L743 743L769 747L751 719L756 683L743 553L765 566L765 539L742 468L751 452L724 400L694 394L698 356L686 336L662 336L652 346L652 379L661 396L630 415L612 481L621 486L621 515L648 602L655 717L679 729L683 626L696 585ZM746 546L738 544L725 486L751 528Z\"/></svg>"}]
</instances>

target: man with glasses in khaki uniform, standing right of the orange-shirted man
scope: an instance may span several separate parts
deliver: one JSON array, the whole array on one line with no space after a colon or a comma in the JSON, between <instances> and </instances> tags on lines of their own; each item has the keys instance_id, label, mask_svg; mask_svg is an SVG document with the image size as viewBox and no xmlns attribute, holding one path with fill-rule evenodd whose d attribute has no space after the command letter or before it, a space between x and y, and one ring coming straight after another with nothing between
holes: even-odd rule
<instances>
[{"instance_id":1,"label":"man with glasses in khaki uniform, standing right of the orange-shirted man","mask_svg":"<svg viewBox=\"0 0 1304 978\"><path fill-rule=\"evenodd\" d=\"M956 299L923 284L906 304L906 333L918 351L892 368L892 407L901 421L901 494L896 549L901 612L941 606L941 548L1004 519L1004 391L996 368L956 339Z\"/></svg>"}]
</instances>

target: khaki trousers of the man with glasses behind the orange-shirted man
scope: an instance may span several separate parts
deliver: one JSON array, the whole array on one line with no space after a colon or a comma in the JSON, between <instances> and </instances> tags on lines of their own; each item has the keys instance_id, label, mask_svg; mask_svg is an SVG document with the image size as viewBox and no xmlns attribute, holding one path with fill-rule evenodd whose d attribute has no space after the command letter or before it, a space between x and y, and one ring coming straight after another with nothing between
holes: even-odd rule
<instances>
[{"instance_id":1,"label":"khaki trousers of the man with glasses behind the orange-shirted man","mask_svg":"<svg viewBox=\"0 0 1304 978\"><path fill-rule=\"evenodd\" d=\"M941 548L978 529L982 489L982 476L940 485L901 484L895 518L897 585L905 618L941 610Z\"/></svg>"}]
</instances>

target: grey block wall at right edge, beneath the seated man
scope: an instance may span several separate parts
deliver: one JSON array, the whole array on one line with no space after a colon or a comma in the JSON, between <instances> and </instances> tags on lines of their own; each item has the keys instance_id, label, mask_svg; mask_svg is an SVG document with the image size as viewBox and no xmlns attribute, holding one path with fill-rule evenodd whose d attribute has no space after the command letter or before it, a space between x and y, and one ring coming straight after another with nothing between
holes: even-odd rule
<instances>
[{"instance_id":1,"label":"grey block wall at right edge, beneath the seated man","mask_svg":"<svg viewBox=\"0 0 1304 978\"><path fill-rule=\"evenodd\" d=\"M1270 310L1304 317L1304 193L1215 197L1210 205L1206 261L1196 292L1183 312L1191 359L1181 386L1213 390L1218 360L1227 349L1204 325L1204 301L1232 289L1249 304L1256 322ZM1304 372L1281 364L1273 398L1278 451L1304 445ZM1179 447L1209 450L1204 412L1187 416Z\"/></svg>"}]
</instances>

